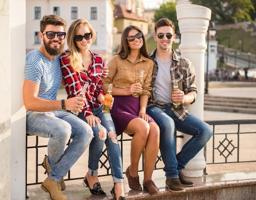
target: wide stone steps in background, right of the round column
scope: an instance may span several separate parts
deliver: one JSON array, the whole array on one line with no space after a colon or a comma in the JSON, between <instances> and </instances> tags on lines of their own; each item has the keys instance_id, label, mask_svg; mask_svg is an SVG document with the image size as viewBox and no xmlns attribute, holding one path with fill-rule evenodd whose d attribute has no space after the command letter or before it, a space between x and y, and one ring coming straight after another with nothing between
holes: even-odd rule
<instances>
[{"instance_id":1,"label":"wide stone steps in background, right of the round column","mask_svg":"<svg viewBox=\"0 0 256 200\"><path fill-rule=\"evenodd\" d=\"M256 98L204 94L204 110L256 114Z\"/></svg>"}]
</instances>

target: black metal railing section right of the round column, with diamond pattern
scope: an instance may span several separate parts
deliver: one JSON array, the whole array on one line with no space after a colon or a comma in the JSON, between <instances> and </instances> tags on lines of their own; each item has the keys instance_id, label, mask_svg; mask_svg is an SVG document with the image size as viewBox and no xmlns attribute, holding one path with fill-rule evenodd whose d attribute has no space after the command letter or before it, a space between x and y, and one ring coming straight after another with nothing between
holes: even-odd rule
<instances>
[{"instance_id":1,"label":"black metal railing section right of the round column, with diamond pattern","mask_svg":"<svg viewBox=\"0 0 256 200\"><path fill-rule=\"evenodd\" d=\"M256 162L255 151L247 150L243 152L245 148L249 149L250 146L255 146L256 120L219 120L205 122L211 125L213 129L213 137L207 143L207 146L204 147L204 157L207 164ZM227 132L223 130L223 126L225 126L225 130L228 130ZM210 150L209 146L211 146L211 153L208 151ZM209 156L211 157L209 158ZM206 173L206 169L204 169L204 173Z\"/></svg>"}]
</instances>

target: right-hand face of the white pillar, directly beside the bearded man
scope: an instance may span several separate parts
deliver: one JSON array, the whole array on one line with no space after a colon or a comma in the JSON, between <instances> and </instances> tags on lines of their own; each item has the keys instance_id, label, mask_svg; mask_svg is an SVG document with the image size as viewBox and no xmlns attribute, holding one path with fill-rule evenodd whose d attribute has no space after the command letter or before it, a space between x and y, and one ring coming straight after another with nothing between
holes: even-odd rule
<instances>
[{"instance_id":1,"label":"right-hand face of the white pillar, directly beside the bearded man","mask_svg":"<svg viewBox=\"0 0 256 200\"><path fill-rule=\"evenodd\" d=\"M26 111L22 87L26 56L26 1L10 0L11 200L25 199Z\"/></svg>"}]
</instances>

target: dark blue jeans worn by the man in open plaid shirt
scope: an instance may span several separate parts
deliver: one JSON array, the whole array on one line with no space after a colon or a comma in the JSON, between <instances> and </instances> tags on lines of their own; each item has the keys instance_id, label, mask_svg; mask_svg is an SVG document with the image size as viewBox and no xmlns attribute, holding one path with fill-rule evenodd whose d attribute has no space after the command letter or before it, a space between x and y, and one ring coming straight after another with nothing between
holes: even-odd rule
<instances>
[{"instance_id":1,"label":"dark blue jeans worn by the man in open plaid shirt","mask_svg":"<svg viewBox=\"0 0 256 200\"><path fill-rule=\"evenodd\" d=\"M147 108L147 113L157 122L160 128L160 151L164 162L166 178L177 178L178 172L205 146L213 132L209 124L189 113L182 122L165 104L165 109L156 106ZM175 155L174 131L191 135L181 151Z\"/></svg>"}]
</instances>

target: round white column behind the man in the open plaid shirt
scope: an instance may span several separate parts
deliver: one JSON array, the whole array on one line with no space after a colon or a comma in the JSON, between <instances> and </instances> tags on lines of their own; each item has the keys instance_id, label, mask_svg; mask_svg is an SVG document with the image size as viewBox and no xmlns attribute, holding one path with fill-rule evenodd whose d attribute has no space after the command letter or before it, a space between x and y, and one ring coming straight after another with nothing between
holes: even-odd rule
<instances>
[{"instance_id":1,"label":"round white column behind the man in the open plaid shirt","mask_svg":"<svg viewBox=\"0 0 256 200\"><path fill-rule=\"evenodd\" d=\"M194 4L178 4L177 20L181 33L180 53L191 60L196 71L198 94L196 101L188 105L189 111L203 120L204 114L204 55L207 45L205 36L211 19L211 10ZM182 133L181 133L182 134ZM182 134L181 147L191 138ZM180 147L180 148L181 148ZM203 150L201 150L185 167L183 173L188 177L200 177L206 167Z\"/></svg>"}]
</instances>

